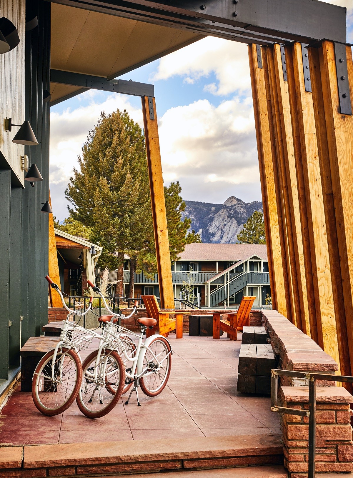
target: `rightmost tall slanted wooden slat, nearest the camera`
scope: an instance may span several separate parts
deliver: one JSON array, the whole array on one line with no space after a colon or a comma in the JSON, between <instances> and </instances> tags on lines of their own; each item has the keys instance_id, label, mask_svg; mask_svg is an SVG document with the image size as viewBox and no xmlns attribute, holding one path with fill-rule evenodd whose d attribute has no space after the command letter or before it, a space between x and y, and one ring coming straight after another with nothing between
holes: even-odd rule
<instances>
[{"instance_id":1,"label":"rightmost tall slanted wooden slat, nearest the camera","mask_svg":"<svg viewBox=\"0 0 353 478\"><path fill-rule=\"evenodd\" d=\"M337 335L342 367L353 370L353 116L341 115L334 46L309 48L320 170L324 188ZM352 50L347 46L348 80L353 87ZM331 213L332 217L328 215ZM342 311L342 298L344 313ZM343 373L343 370L341 369ZM346 372L348 374L348 372ZM351 374L351 373L349 373Z\"/></svg>"}]
</instances>

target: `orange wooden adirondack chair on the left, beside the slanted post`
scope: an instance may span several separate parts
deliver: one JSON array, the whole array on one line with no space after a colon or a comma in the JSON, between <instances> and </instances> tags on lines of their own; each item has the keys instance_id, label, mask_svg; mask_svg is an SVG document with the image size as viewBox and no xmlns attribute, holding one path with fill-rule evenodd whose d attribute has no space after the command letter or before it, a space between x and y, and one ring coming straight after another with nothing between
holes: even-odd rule
<instances>
[{"instance_id":1,"label":"orange wooden adirondack chair on the left, beside the slanted post","mask_svg":"<svg viewBox=\"0 0 353 478\"><path fill-rule=\"evenodd\" d=\"M157 321L157 325L151 330L146 330L146 336L155 333L168 337L172 330L176 331L176 338L183 338L183 313L174 309L160 309L155 295L142 295L147 314ZM175 318L169 318L169 314L175 314Z\"/></svg>"}]
</instances>

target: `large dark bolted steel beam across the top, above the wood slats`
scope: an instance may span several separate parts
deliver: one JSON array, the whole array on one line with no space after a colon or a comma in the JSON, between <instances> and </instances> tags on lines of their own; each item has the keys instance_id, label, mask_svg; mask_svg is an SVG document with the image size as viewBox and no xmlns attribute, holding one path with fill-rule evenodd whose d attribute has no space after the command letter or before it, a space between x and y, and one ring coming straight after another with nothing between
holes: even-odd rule
<instances>
[{"instance_id":1,"label":"large dark bolted steel beam across the top, above the wood slats","mask_svg":"<svg viewBox=\"0 0 353 478\"><path fill-rule=\"evenodd\" d=\"M160 25L188 28L229 38L262 33L276 43L283 38L311 43L323 38L346 43L346 9L318 0L50 0L90 11ZM223 33L221 33L222 26ZM240 35L241 37L241 35ZM241 41L234 36L234 41ZM260 43L260 42L254 42Z\"/></svg>"}]
</instances>

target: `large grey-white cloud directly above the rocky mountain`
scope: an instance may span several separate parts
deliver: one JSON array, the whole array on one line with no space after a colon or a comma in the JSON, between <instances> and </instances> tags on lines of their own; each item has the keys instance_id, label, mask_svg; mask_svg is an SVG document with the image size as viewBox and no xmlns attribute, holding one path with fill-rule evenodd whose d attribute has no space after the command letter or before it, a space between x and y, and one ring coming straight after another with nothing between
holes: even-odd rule
<instances>
[{"instance_id":1,"label":"large grey-white cloud directly above the rocky mountain","mask_svg":"<svg viewBox=\"0 0 353 478\"><path fill-rule=\"evenodd\" d=\"M249 101L232 99L216 108L199 100L171 108L160 120L159 139L164 180L179 180L185 199L224 202L236 191L244 195L244 185L249 190L242 198L260 198Z\"/></svg>"}]
</instances>

